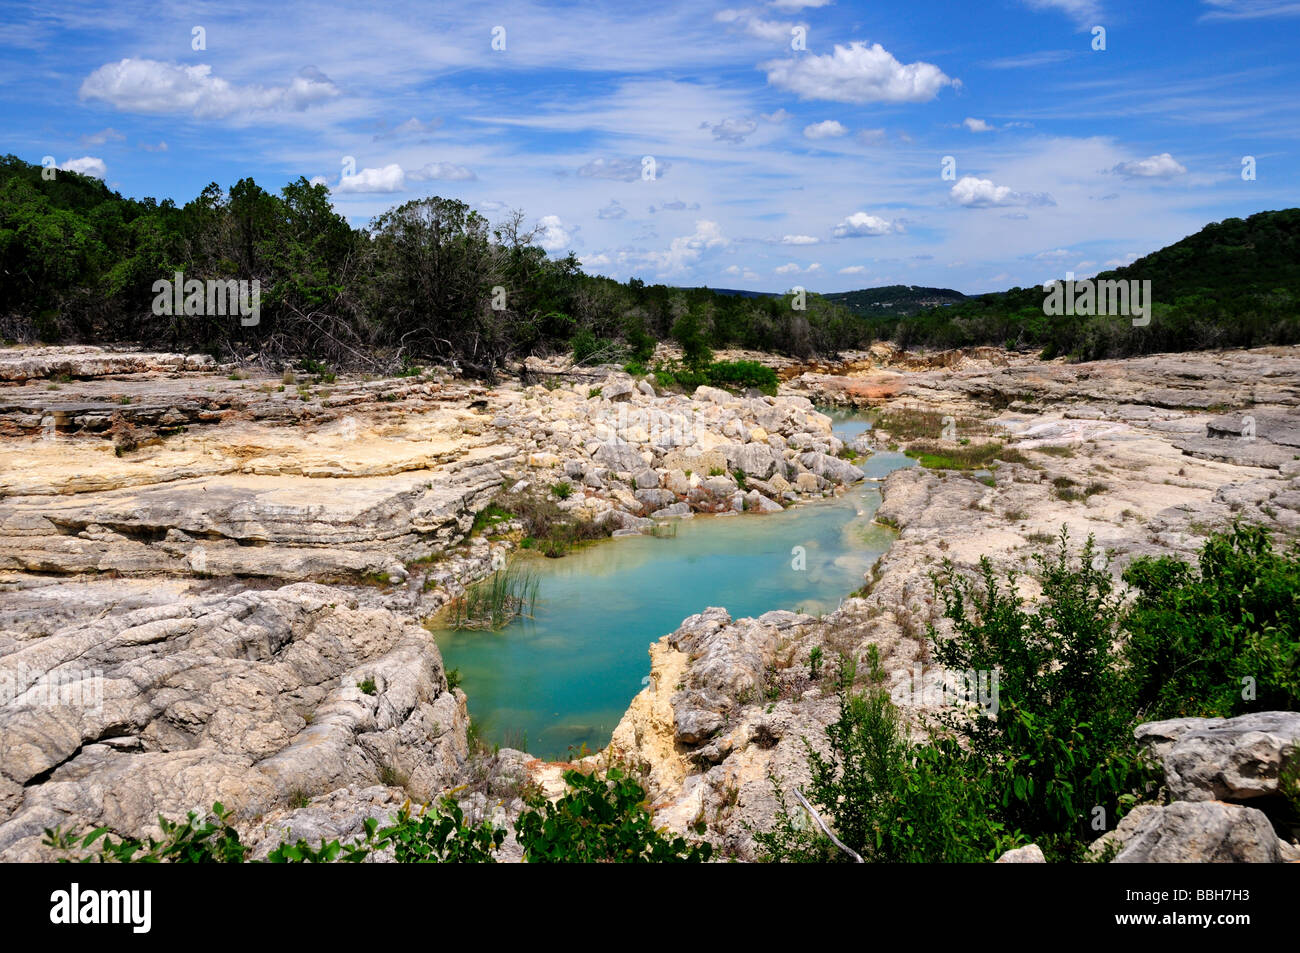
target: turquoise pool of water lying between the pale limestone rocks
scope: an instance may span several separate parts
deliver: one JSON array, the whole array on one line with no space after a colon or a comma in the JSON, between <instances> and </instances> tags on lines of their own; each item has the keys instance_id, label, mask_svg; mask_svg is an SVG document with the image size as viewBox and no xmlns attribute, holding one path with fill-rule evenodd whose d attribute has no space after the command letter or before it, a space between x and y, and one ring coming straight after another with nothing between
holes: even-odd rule
<instances>
[{"instance_id":1,"label":"turquoise pool of water lying between the pale limestone rocks","mask_svg":"<svg viewBox=\"0 0 1300 953\"><path fill-rule=\"evenodd\" d=\"M848 436L861 421L836 421ZM913 465L876 454L863 469L884 476ZM563 559L523 553L537 573L532 619L498 632L441 632L448 668L459 668L469 712L489 742L540 757L608 744L650 673L650 644L688 615L725 606L732 618L774 608L833 610L863 582L893 536L874 525L880 493L870 481L842 497L768 516L697 516L676 537L627 537ZM796 569L802 547L802 566Z\"/></svg>"}]
</instances>

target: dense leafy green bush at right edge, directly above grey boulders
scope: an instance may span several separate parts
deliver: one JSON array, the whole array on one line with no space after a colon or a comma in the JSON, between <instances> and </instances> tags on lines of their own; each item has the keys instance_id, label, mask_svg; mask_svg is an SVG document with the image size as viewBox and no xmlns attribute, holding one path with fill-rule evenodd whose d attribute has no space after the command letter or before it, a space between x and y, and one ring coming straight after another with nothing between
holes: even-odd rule
<instances>
[{"instance_id":1,"label":"dense leafy green bush at right edge, directly above grey boulders","mask_svg":"<svg viewBox=\"0 0 1300 953\"><path fill-rule=\"evenodd\" d=\"M1124 581L1138 590L1127 654L1147 716L1300 707L1300 543L1278 553L1264 529L1236 525L1205 542L1197 567L1143 558Z\"/></svg>"}]
</instances>

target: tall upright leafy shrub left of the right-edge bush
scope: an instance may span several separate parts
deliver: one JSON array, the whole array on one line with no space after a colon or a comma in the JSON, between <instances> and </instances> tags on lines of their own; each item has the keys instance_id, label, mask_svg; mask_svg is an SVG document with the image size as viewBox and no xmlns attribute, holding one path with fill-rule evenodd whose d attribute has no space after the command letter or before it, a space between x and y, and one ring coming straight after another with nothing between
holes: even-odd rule
<instances>
[{"instance_id":1,"label":"tall upright leafy shrub left of the right-edge bush","mask_svg":"<svg viewBox=\"0 0 1300 953\"><path fill-rule=\"evenodd\" d=\"M982 559L978 581L945 567L935 584L956 634L939 638L935 658L950 671L1000 673L996 718L950 711L948 727L988 763L1010 829L1034 837L1044 853L1076 857L1095 836L1087 827L1101 806L1124 813L1145 774L1132 738L1134 693L1115 649L1121 597L1095 567L1089 537L1078 563L1062 530L1054 553L1034 556L1043 588L1031 612Z\"/></svg>"}]
</instances>

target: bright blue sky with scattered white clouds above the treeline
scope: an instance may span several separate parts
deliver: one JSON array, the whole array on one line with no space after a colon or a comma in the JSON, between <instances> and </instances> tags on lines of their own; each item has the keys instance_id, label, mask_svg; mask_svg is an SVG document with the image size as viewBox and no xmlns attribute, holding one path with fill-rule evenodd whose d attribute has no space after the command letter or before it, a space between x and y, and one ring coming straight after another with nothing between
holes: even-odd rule
<instances>
[{"instance_id":1,"label":"bright blue sky with scattered white clouds above the treeline","mask_svg":"<svg viewBox=\"0 0 1300 953\"><path fill-rule=\"evenodd\" d=\"M306 176L355 225L433 194L517 208L619 280L978 293L1300 204L1297 0L43 1L0 23L0 148L29 161L178 203Z\"/></svg>"}]
</instances>

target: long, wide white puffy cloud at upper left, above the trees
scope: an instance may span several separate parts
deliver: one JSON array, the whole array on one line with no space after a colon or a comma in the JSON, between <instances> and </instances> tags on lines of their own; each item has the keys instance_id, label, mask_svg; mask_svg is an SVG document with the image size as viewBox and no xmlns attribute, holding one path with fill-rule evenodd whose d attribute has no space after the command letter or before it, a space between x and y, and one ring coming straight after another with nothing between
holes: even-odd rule
<instances>
[{"instance_id":1,"label":"long, wide white puffy cloud at upper left, above the trees","mask_svg":"<svg viewBox=\"0 0 1300 953\"><path fill-rule=\"evenodd\" d=\"M140 113L192 113L221 118L234 113L299 112L341 95L334 82L306 66L285 86L234 86L212 75L212 66L127 57L104 64L82 82L82 99L96 99Z\"/></svg>"}]
</instances>

